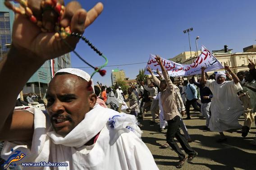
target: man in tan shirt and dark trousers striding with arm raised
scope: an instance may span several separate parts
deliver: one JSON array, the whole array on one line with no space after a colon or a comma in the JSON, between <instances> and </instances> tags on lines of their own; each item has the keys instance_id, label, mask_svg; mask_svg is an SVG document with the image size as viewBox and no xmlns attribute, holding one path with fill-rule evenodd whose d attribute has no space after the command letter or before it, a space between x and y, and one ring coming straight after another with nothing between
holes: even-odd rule
<instances>
[{"instance_id":1,"label":"man in tan shirt and dark trousers striding with arm raised","mask_svg":"<svg viewBox=\"0 0 256 170\"><path fill-rule=\"evenodd\" d=\"M192 161L194 157L197 156L197 152L194 151L189 144L187 143L186 138L183 134L180 133L179 125L181 123L180 114L178 112L177 104L176 104L176 95L174 90L174 85L169 78L165 67L161 61L159 56L156 56L156 62L160 65L163 76L165 80L160 82L161 89L161 102L163 105L165 120L168 123L168 129L166 133L166 141L167 143L174 149L176 153L178 153L179 161L176 165L176 168L181 168L185 161ZM182 111L184 112L184 111ZM182 113L183 114L183 113ZM184 151L188 154L188 157L181 151L178 147L178 144L174 141L174 137L181 144Z\"/></svg>"}]
</instances>

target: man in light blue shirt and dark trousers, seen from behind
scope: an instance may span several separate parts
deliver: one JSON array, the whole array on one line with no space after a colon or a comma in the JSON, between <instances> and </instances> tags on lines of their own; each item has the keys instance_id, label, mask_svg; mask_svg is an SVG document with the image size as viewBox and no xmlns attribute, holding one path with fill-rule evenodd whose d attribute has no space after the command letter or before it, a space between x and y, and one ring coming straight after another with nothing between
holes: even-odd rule
<instances>
[{"instance_id":1,"label":"man in light blue shirt and dark trousers, seen from behind","mask_svg":"<svg viewBox=\"0 0 256 170\"><path fill-rule=\"evenodd\" d=\"M185 118L186 120L191 119L190 117L190 105L192 105L192 107L200 112L200 108L197 106L197 89L193 84L189 84L187 80L185 80L184 85L186 87L186 113L187 113L187 118Z\"/></svg>"}]
</instances>

